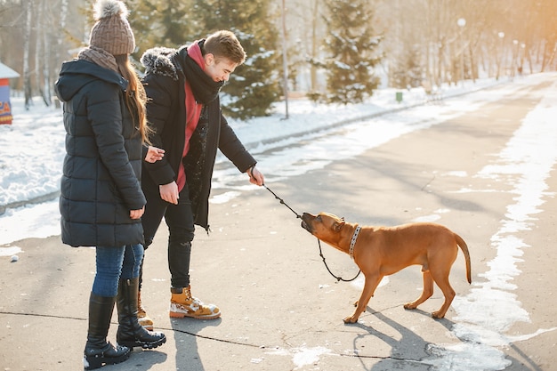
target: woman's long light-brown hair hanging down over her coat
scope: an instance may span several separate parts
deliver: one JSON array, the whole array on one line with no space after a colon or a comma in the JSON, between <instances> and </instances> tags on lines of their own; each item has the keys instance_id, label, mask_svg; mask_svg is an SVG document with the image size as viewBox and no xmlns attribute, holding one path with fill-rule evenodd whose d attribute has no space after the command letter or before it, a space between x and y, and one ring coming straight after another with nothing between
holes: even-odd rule
<instances>
[{"instance_id":1,"label":"woman's long light-brown hair hanging down over her coat","mask_svg":"<svg viewBox=\"0 0 557 371\"><path fill-rule=\"evenodd\" d=\"M125 90L125 104L130 112L132 112L133 120L137 119L139 121L136 123L136 127L141 133L141 140L144 143L150 144L150 129L149 125L147 125L147 117L145 116L145 104L147 102L145 88L135 73L128 55L115 55L115 58L122 77L129 82Z\"/></svg>"}]
</instances>

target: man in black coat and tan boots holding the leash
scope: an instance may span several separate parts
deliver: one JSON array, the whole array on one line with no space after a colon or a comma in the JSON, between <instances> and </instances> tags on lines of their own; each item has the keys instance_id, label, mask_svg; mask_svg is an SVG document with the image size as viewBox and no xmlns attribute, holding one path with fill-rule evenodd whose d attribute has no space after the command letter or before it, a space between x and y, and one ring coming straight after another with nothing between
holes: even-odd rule
<instances>
[{"instance_id":1,"label":"man in black coat and tan boots holding the leash","mask_svg":"<svg viewBox=\"0 0 557 371\"><path fill-rule=\"evenodd\" d=\"M191 296L190 253L194 224L208 230L208 198L217 149L249 180L263 184L256 161L222 116L219 92L246 52L230 31L218 31L179 50L150 49L141 57L149 98L152 145L165 149L156 164L145 164L141 182L147 198L142 217L145 248L165 217L171 273L170 317L216 319L221 311ZM141 308L140 322L152 328Z\"/></svg>"}]
</instances>

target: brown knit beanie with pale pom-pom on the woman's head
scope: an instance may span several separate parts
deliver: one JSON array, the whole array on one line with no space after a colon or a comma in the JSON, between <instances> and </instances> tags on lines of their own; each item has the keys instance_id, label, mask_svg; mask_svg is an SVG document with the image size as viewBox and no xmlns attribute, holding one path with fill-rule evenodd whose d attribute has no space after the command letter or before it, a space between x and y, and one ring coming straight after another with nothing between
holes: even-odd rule
<instances>
[{"instance_id":1,"label":"brown knit beanie with pale pom-pom on the woman's head","mask_svg":"<svg viewBox=\"0 0 557 371\"><path fill-rule=\"evenodd\" d=\"M112 55L131 54L135 50L135 37L127 21L128 10L118 0L98 0L94 4L94 19L89 45Z\"/></svg>"}]
</instances>

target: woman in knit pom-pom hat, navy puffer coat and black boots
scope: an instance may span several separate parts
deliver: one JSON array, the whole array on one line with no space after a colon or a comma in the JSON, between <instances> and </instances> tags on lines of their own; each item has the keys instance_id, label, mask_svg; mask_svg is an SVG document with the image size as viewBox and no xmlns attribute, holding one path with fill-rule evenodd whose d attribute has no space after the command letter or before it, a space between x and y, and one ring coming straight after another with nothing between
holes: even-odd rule
<instances>
[{"instance_id":1,"label":"woman in knit pom-pom hat, navy puffer coat and black boots","mask_svg":"<svg viewBox=\"0 0 557 371\"><path fill-rule=\"evenodd\" d=\"M135 39L126 16L122 2L98 1L89 47L63 63L56 82L67 133L61 238L69 246L96 247L85 369L122 362L134 346L151 349L166 341L137 320L146 204L141 162L160 159L162 152L143 145L146 96L128 60ZM115 302L117 346L107 342Z\"/></svg>"}]
</instances>

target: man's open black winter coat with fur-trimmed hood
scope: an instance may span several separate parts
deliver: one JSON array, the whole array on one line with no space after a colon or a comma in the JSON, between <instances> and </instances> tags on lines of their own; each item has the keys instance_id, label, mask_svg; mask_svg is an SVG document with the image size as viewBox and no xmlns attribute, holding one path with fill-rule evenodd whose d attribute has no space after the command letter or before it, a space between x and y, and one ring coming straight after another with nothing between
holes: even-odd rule
<instances>
[{"instance_id":1,"label":"man's open black winter coat with fur-trimmed hood","mask_svg":"<svg viewBox=\"0 0 557 371\"><path fill-rule=\"evenodd\" d=\"M158 194L158 186L176 181L185 145L186 108L183 56L185 50L149 49L141 57L145 66L143 84L147 92L147 117L154 129L153 146L165 149L165 157L145 166L142 179L146 194ZM255 165L252 157L238 140L222 116L218 97L202 111L198 127L190 139L190 151L183 159L194 222L208 229L209 193L217 148L245 173Z\"/></svg>"}]
</instances>

